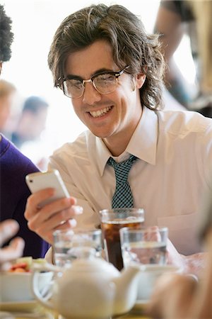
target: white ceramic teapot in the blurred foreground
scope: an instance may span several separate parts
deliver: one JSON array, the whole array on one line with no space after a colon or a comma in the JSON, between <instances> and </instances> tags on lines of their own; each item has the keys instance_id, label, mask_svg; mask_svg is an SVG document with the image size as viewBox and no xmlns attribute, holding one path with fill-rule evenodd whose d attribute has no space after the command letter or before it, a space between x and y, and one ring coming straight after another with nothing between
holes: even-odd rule
<instances>
[{"instance_id":1,"label":"white ceramic teapot in the blurred foreground","mask_svg":"<svg viewBox=\"0 0 212 319\"><path fill-rule=\"evenodd\" d=\"M67 319L110 318L134 306L139 269L131 264L119 272L112 264L95 257L76 259L65 270L52 264L37 266L33 273L33 293L43 306L57 310ZM45 297L38 289L37 276L41 271L58 273L52 293Z\"/></svg>"}]
</instances>

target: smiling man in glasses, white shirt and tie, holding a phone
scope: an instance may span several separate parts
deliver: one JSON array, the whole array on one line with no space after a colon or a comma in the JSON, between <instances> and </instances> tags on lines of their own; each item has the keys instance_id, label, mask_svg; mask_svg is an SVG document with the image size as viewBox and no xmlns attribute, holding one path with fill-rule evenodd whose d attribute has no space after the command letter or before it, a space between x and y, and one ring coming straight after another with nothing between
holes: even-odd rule
<instances>
[{"instance_id":1,"label":"smiling man in glasses, white shirt and tie, holding a phone","mask_svg":"<svg viewBox=\"0 0 212 319\"><path fill-rule=\"evenodd\" d=\"M161 111L165 65L158 36L147 35L123 6L92 5L61 23L48 62L54 85L88 128L50 159L83 208L78 226L98 227L98 212L114 207L114 167L131 161L131 206L145 209L146 225L169 228L170 262L198 272L203 255L194 230L201 193L209 187L212 120ZM33 194L25 211L29 227L49 242L73 209L73 198L37 209L52 194Z\"/></svg>"}]
</instances>

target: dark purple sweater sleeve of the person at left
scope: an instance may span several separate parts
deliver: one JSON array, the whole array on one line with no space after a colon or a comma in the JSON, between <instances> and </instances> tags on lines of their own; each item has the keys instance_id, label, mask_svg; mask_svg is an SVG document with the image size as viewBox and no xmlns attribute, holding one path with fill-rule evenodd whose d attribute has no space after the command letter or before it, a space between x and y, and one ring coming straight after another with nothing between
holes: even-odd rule
<instances>
[{"instance_id":1,"label":"dark purple sweater sleeve of the person at left","mask_svg":"<svg viewBox=\"0 0 212 319\"><path fill-rule=\"evenodd\" d=\"M18 221L17 235L25 240L23 256L44 257L49 244L29 230L24 218L25 204L30 191L25 176L37 172L37 167L11 142L2 136L0 142L0 220L13 218Z\"/></svg>"}]
</instances>

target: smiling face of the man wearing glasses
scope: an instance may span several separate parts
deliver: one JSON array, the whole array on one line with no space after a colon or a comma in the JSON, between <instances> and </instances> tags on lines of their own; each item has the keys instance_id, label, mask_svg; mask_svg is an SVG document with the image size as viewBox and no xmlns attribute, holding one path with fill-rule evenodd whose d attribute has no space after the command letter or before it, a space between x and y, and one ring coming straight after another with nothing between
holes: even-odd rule
<instances>
[{"instance_id":1,"label":"smiling face of the man wearing glasses","mask_svg":"<svg viewBox=\"0 0 212 319\"><path fill-rule=\"evenodd\" d=\"M100 70L120 71L114 63L112 48L105 40L98 40L92 45L71 53L66 61L66 75L81 79L90 79ZM122 142L131 138L142 108L139 88L145 76L138 74L132 79L130 74L118 78L117 88L110 94L100 94L91 82L85 84L81 98L72 99L73 108L78 118L96 136L110 144L113 140ZM100 111L100 112L98 112Z\"/></svg>"}]
</instances>

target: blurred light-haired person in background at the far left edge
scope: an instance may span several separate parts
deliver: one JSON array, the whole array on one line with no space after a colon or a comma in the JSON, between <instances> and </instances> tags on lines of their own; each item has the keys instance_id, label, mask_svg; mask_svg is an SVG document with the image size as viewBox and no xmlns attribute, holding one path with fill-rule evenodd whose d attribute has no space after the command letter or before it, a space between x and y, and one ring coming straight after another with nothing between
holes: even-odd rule
<instances>
[{"instance_id":1,"label":"blurred light-haired person in background at the far left edge","mask_svg":"<svg viewBox=\"0 0 212 319\"><path fill-rule=\"evenodd\" d=\"M16 87L3 79L0 79L0 131L4 133L6 123L11 115L11 107L13 104Z\"/></svg>"}]
</instances>

